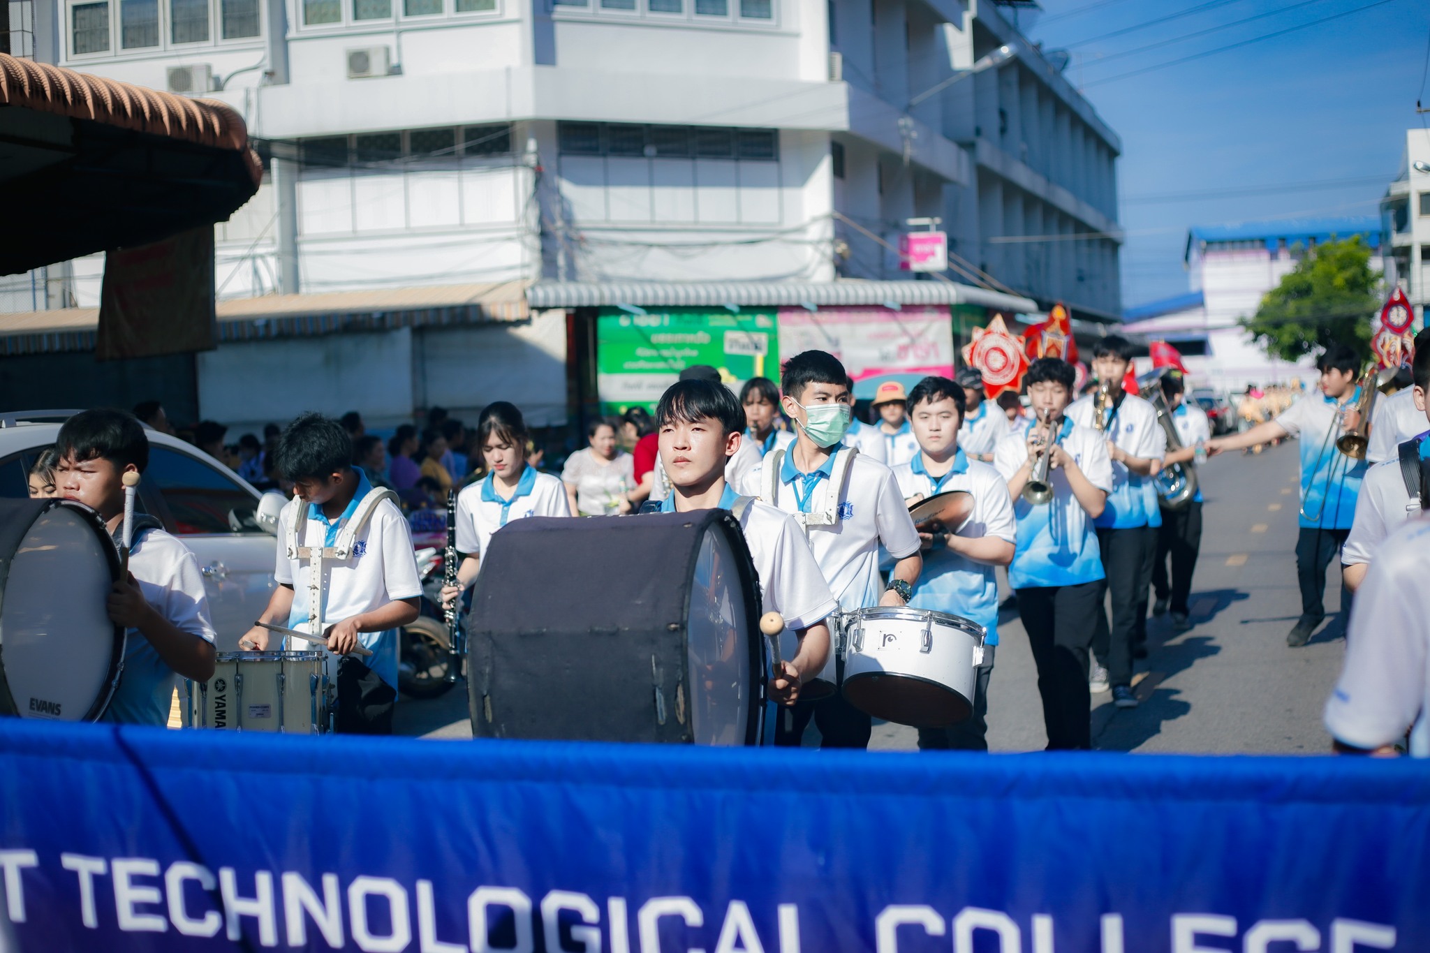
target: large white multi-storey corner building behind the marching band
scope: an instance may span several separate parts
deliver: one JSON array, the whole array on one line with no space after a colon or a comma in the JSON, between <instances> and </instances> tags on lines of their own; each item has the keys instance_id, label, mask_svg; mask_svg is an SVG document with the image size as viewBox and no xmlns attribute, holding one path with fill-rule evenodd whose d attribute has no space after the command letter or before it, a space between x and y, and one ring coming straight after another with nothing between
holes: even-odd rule
<instances>
[{"instance_id":1,"label":"large white multi-storey corner building behind the marching band","mask_svg":"<svg viewBox=\"0 0 1430 953\"><path fill-rule=\"evenodd\" d=\"M991 0L10 7L34 21L37 59L243 114L267 171L216 236L219 299L243 314L277 293L299 326L302 300L332 293L426 287L428 307L459 307L482 287L505 296L536 281L899 279L911 217L942 220L952 280L1010 301L1061 300L1085 320L1121 313L1120 140ZM1014 59L909 106L1001 44L1015 44ZM102 270L96 256L3 279L0 309L93 306ZM468 313L488 321L492 310ZM382 353L478 369L443 397L456 409L535 399L482 383L480 334L398 323L415 337ZM46 330L34 317L14 327ZM546 404L565 389L551 340L538 349ZM253 420L252 374L217 376L233 364L226 347L196 359L194 414ZM242 363L263 367L272 343L253 347ZM342 344L315 347L337 360ZM430 400L412 360L406 383L385 389L410 400L375 417L406 419ZM519 367L502 370L509 383ZM295 404L345 409L302 376L287 386Z\"/></svg>"}]
</instances>

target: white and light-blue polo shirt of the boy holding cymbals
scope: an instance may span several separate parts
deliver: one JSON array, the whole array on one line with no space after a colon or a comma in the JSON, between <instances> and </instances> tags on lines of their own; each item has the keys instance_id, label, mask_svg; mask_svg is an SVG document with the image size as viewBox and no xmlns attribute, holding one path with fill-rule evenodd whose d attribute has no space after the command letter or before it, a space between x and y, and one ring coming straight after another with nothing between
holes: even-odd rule
<instances>
[{"instance_id":1,"label":"white and light-blue polo shirt of the boy holding cymbals","mask_svg":"<svg viewBox=\"0 0 1430 953\"><path fill-rule=\"evenodd\" d=\"M974 512L958 536L997 536L1010 543L1018 542L1008 483L992 466L970 460L962 449L954 457L954 467L941 477L930 476L924 463L924 456L919 454L894 467L894 479L905 500L915 494L930 497L967 490L972 493ZM987 563L975 563L947 546L925 550L924 570L918 574L914 599L908 604L972 619L988 630L988 644L998 644L998 576Z\"/></svg>"}]
</instances>

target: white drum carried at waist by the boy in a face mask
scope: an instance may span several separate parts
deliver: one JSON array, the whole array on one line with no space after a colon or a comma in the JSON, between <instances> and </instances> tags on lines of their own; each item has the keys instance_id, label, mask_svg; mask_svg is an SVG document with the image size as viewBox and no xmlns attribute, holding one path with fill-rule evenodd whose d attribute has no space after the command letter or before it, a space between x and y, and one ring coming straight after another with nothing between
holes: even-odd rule
<instances>
[{"instance_id":1,"label":"white drum carried at waist by the boy in a face mask","mask_svg":"<svg viewBox=\"0 0 1430 953\"><path fill-rule=\"evenodd\" d=\"M974 710L987 630L931 609L859 609L845 623L844 697L877 719L945 727Z\"/></svg>"}]
</instances>

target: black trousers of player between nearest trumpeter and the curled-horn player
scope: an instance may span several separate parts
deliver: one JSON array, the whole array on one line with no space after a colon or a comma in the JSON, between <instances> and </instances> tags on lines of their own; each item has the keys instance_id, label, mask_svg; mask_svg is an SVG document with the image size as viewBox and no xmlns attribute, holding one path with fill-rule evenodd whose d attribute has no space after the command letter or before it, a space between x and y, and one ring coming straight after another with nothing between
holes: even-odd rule
<instances>
[{"instance_id":1,"label":"black trousers of player between nearest trumpeter and the curled-horn player","mask_svg":"<svg viewBox=\"0 0 1430 953\"><path fill-rule=\"evenodd\" d=\"M1157 552L1157 530L1135 526L1125 530L1097 530L1103 550L1103 593L1111 593L1113 620L1108 624L1103 599L1097 603L1097 629L1093 652L1107 666L1107 680L1115 686L1133 683L1133 646L1147 639L1147 587L1151 584L1153 554Z\"/></svg>"}]
</instances>

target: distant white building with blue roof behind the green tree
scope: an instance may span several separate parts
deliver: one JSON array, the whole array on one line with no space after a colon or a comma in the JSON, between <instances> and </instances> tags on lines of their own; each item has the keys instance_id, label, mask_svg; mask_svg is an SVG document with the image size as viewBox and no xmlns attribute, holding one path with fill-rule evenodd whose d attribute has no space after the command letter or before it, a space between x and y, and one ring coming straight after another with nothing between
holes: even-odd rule
<instances>
[{"instance_id":1,"label":"distant white building with blue roof behind the green tree","mask_svg":"<svg viewBox=\"0 0 1430 953\"><path fill-rule=\"evenodd\" d=\"M1123 320L1128 331L1177 347L1197 384L1238 391L1310 377L1310 359L1293 364L1268 357L1237 321L1256 314L1307 249L1351 236L1370 246L1371 267L1383 269L1381 224L1370 216L1197 226L1187 233L1183 259L1190 291L1128 307Z\"/></svg>"}]
</instances>

